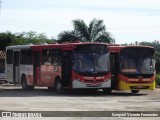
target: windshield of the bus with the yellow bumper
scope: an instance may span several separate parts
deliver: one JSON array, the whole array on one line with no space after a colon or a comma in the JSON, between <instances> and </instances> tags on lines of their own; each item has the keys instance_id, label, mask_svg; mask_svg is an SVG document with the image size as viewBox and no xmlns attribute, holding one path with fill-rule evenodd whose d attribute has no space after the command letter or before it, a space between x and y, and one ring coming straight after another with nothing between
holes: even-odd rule
<instances>
[{"instance_id":1,"label":"windshield of the bus with the yellow bumper","mask_svg":"<svg viewBox=\"0 0 160 120\"><path fill-rule=\"evenodd\" d=\"M120 59L122 73L154 74L155 66L152 56L122 55Z\"/></svg>"}]
</instances>

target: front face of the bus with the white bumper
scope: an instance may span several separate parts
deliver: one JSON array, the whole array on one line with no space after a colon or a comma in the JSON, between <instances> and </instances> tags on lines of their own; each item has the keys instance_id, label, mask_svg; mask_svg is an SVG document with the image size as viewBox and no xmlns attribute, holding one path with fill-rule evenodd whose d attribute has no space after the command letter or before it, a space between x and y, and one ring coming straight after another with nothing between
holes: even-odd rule
<instances>
[{"instance_id":1,"label":"front face of the bus with the white bumper","mask_svg":"<svg viewBox=\"0 0 160 120\"><path fill-rule=\"evenodd\" d=\"M79 45L73 54L72 88L111 88L107 45Z\"/></svg>"}]
</instances>

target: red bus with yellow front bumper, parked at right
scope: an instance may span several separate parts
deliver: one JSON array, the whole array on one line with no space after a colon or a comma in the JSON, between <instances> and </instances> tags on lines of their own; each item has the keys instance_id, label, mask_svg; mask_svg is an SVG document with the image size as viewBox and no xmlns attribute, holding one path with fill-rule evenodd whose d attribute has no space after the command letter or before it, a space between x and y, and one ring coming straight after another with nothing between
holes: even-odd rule
<instances>
[{"instance_id":1,"label":"red bus with yellow front bumper, parked at right","mask_svg":"<svg viewBox=\"0 0 160 120\"><path fill-rule=\"evenodd\" d=\"M112 89L155 89L155 50L149 46L110 46Z\"/></svg>"}]
</instances>

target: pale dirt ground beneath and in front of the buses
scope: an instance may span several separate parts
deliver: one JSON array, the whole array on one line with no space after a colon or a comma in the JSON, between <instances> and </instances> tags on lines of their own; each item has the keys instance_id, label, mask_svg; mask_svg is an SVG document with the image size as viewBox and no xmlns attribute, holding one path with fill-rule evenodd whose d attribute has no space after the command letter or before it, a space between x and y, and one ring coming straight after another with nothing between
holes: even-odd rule
<instances>
[{"instance_id":1,"label":"pale dirt ground beneath and in front of the buses","mask_svg":"<svg viewBox=\"0 0 160 120\"><path fill-rule=\"evenodd\" d=\"M86 91L66 91L56 94L47 88L36 87L33 91L23 91L20 86L0 87L1 111L160 111L160 88L156 90L140 91L131 94L130 91L113 91L112 94L104 94L102 91L95 93ZM69 113L72 114L72 113ZM73 112L73 114L76 114ZM77 113L78 114L78 113ZM90 113L92 114L92 113ZM96 114L96 113L93 113ZM160 116L160 115L159 115ZM53 117L57 120L75 119L73 117L62 118L61 115ZM53 119L51 118L51 119ZM76 119L92 119L97 117L76 117ZM158 117L153 117L158 119ZM8 119L8 118L3 118ZM20 118L13 118L20 119ZM22 118L21 118L22 119ZM30 118L34 119L34 118ZM39 120L44 118L38 118ZM50 119L46 117L45 119ZM99 117L98 119L134 120L135 117ZM151 117L138 117L148 119ZM153 120L154 120L153 119Z\"/></svg>"}]
</instances>

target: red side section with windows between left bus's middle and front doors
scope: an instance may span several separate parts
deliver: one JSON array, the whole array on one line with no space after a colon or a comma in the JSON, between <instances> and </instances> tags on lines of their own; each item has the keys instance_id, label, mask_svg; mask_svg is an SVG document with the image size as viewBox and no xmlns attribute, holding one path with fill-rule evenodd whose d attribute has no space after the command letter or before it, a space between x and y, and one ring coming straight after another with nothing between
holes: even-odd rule
<instances>
[{"instance_id":1,"label":"red side section with windows between left bus's middle and front doors","mask_svg":"<svg viewBox=\"0 0 160 120\"><path fill-rule=\"evenodd\" d=\"M61 78L61 50L43 49L40 56L41 64L37 65L39 67L37 70L37 85L54 87L55 79L57 77Z\"/></svg>"}]
</instances>

